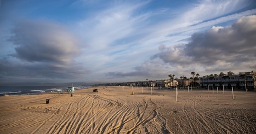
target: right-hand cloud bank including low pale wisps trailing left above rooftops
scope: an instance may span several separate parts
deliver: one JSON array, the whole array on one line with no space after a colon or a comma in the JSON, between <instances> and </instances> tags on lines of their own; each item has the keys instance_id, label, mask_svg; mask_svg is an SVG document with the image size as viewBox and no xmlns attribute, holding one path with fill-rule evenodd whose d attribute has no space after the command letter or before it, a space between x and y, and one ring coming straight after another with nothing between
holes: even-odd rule
<instances>
[{"instance_id":1,"label":"right-hand cloud bank including low pale wisps trailing left above rooftops","mask_svg":"<svg viewBox=\"0 0 256 134\"><path fill-rule=\"evenodd\" d=\"M158 47L160 53L153 55L151 61L134 67L133 73L110 72L107 75L130 76L144 71L148 74L149 68L151 72L155 71L152 75L162 72L163 76L166 75L163 71L166 73L173 71L182 75L181 72L187 73L193 69L207 72L223 72L230 69L250 71L256 68L255 24L256 15L251 15L238 19L231 27L213 26L204 32L192 34L187 44L177 44L173 47L160 45ZM162 61L162 66L147 65L149 62L158 65L160 63L158 60Z\"/></svg>"}]
</instances>

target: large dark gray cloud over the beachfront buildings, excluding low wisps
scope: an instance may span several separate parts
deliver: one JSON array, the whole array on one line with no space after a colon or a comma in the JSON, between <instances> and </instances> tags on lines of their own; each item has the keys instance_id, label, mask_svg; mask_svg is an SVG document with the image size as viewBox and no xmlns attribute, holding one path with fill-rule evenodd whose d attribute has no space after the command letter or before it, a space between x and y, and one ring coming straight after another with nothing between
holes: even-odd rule
<instances>
[{"instance_id":1,"label":"large dark gray cloud over the beachfront buildings, excluding low wisps","mask_svg":"<svg viewBox=\"0 0 256 134\"><path fill-rule=\"evenodd\" d=\"M205 67L250 62L248 66L256 68L255 42L256 15L252 15L238 19L231 27L213 27L194 33L188 44L166 48L152 59L159 57L174 65L198 63Z\"/></svg>"}]
</instances>

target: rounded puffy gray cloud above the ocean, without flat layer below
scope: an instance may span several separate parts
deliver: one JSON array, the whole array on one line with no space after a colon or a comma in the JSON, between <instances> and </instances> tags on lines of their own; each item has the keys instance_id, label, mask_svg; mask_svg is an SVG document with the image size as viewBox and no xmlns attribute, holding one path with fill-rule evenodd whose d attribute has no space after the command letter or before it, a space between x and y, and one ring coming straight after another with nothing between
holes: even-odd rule
<instances>
[{"instance_id":1,"label":"rounded puffy gray cloud above the ocean, without flat layer below","mask_svg":"<svg viewBox=\"0 0 256 134\"><path fill-rule=\"evenodd\" d=\"M69 64L79 53L72 34L53 22L19 22L12 33L9 41L16 45L12 56L21 60Z\"/></svg>"}]
</instances>

